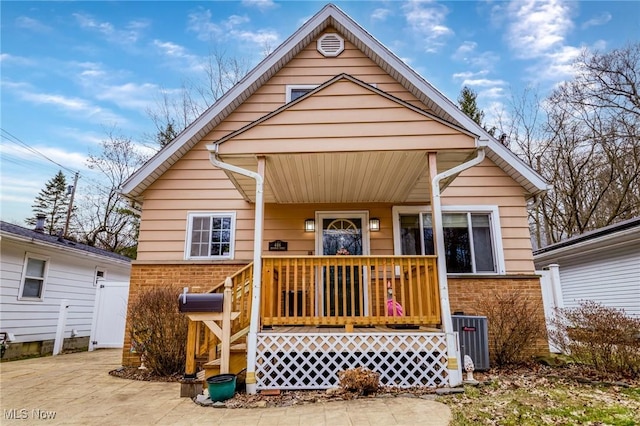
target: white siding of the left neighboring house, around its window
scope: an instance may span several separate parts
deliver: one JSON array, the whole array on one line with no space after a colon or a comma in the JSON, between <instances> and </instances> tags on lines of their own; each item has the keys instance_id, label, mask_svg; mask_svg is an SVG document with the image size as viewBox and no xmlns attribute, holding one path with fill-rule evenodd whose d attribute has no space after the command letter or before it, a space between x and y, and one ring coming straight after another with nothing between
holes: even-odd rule
<instances>
[{"instance_id":1,"label":"white siding of the left neighboring house, around its window","mask_svg":"<svg viewBox=\"0 0 640 426\"><path fill-rule=\"evenodd\" d=\"M49 270L42 301L18 300L25 253L49 258ZM106 258L83 256L59 249L2 239L0 278L0 331L14 333L16 342L55 338L60 300L69 300L65 337L71 329L77 337L89 336L93 315L96 267L106 271L110 281L129 281L130 265Z\"/></svg>"}]
</instances>

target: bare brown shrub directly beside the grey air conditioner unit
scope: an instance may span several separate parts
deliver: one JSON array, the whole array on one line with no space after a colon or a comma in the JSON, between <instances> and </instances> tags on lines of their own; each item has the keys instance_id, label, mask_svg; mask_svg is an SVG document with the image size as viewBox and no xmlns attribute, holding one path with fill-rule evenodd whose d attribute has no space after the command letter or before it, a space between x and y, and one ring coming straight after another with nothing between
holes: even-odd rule
<instances>
[{"instance_id":1,"label":"bare brown shrub directly beside the grey air conditioner unit","mask_svg":"<svg viewBox=\"0 0 640 426\"><path fill-rule=\"evenodd\" d=\"M535 352L536 341L545 335L540 302L522 293L496 293L485 308L489 323L491 363L522 364Z\"/></svg>"}]
</instances>

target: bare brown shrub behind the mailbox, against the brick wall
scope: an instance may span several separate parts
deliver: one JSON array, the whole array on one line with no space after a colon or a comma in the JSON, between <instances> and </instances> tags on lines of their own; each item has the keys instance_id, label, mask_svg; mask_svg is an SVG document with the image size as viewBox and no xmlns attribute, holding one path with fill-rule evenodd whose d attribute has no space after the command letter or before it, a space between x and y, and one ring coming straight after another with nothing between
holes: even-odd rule
<instances>
[{"instance_id":1,"label":"bare brown shrub behind the mailbox, against the brick wall","mask_svg":"<svg viewBox=\"0 0 640 426\"><path fill-rule=\"evenodd\" d=\"M170 286L145 289L129 308L132 346L161 376L184 372L188 318L178 311L180 292Z\"/></svg>"}]
</instances>

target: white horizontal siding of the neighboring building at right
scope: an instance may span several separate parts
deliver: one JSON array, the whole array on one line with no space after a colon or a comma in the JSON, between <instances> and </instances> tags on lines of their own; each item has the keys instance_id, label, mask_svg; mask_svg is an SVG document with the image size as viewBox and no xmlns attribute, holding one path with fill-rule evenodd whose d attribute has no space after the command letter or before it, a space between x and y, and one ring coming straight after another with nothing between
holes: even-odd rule
<instances>
[{"instance_id":1,"label":"white horizontal siding of the neighboring building at right","mask_svg":"<svg viewBox=\"0 0 640 426\"><path fill-rule=\"evenodd\" d=\"M640 247L625 246L559 262L564 305L593 300L640 316Z\"/></svg>"}]
</instances>

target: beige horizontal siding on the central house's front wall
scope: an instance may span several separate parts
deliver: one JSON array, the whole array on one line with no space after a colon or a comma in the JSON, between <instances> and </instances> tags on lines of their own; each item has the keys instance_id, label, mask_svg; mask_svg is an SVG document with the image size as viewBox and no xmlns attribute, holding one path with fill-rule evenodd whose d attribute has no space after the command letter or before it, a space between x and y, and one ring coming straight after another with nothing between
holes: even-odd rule
<instances>
[{"instance_id":1,"label":"beige horizontal siding on the central house's front wall","mask_svg":"<svg viewBox=\"0 0 640 426\"><path fill-rule=\"evenodd\" d=\"M187 214L193 211L236 212L234 259L251 260L253 257L254 206L243 199L242 194L235 189L223 171L215 169L211 165L205 145L282 106L285 102L287 85L319 85L343 72L364 82L375 83L378 89L419 108L426 108L352 44L346 42L345 51L337 58L325 58L315 50L315 41L310 43L298 57L240 105L236 111L144 192L138 260L142 262L183 261L187 235ZM326 89L320 93L324 92L330 96L319 96L317 99L314 99L315 96L313 96L299 102L295 108L288 109L286 114L273 117L273 128L284 126L283 129L291 131L296 127L296 124L299 124L297 127L300 130L295 134L297 137L304 137L311 132L308 128L305 129L302 123L308 121L310 116L314 117L316 123L333 122L337 116L338 120L345 123L343 130L349 131L351 129L351 132L357 136L357 133L362 129L358 128L359 125L348 123L363 120L362 110L342 110L340 114L332 113L330 97L339 97L341 94L358 90L362 93L363 98L376 99L377 102L384 101L385 103L385 107L380 110L368 111L364 118L364 120L368 120L366 127L380 120L400 123L400 125L394 126L394 132L404 131L407 143L411 142L411 138L415 138L416 146L418 144L424 146L424 136L411 136L412 132L439 133L442 140L445 137L450 137L463 145L469 145L472 142L470 137L461 135L435 121L425 121L423 116L421 116L422 123L414 123L417 119L415 117L418 115L417 113L399 107L398 104L394 104L388 99L381 99L379 95L371 96L373 92L351 82L348 85L341 82L336 83L335 87L327 87ZM349 105L347 97L343 97L341 102L344 102L343 105ZM359 100L357 104L352 106L362 108L361 102L362 100ZM261 132L271 131L268 130L269 126L259 127ZM449 134L445 134L445 131ZM393 135L388 134L389 131L386 128L376 128L375 131L367 130L367 132L386 134L385 138L388 138L389 141L394 139ZM281 133L275 133L272 136L281 136ZM264 134L261 135L261 138L264 137ZM260 140L252 139L251 143L259 144ZM342 146L345 145L344 140L339 143ZM449 142L444 143L448 144ZM306 139L305 145L326 147L326 139ZM411 201L424 204L422 200L412 199ZM482 166L461 174L444 192L443 203L449 205L498 205L505 240L503 245L505 246L508 273L531 273L533 271L523 191L498 167L486 160ZM316 210L369 210L370 216L379 217L382 224L380 232L371 233L372 254L393 254L391 205L372 206L368 204L288 204L286 206L267 204L263 251L268 253L268 241L281 239L289 243L289 251L283 254L306 255L309 252L314 252L314 234L305 233L302 225L304 219L314 217ZM277 252L270 254L274 253L277 254Z\"/></svg>"}]
</instances>

